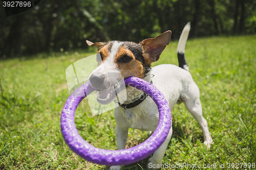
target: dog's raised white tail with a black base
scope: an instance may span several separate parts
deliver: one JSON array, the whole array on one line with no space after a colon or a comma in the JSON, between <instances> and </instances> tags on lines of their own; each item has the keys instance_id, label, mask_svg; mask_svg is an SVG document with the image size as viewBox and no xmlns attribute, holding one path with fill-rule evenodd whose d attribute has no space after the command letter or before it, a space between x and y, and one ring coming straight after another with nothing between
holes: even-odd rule
<instances>
[{"instance_id":1,"label":"dog's raised white tail with a black base","mask_svg":"<svg viewBox=\"0 0 256 170\"><path fill-rule=\"evenodd\" d=\"M190 22L188 22L185 25L185 27L181 33L180 40L178 43L178 48L177 48L179 67L184 68L187 71L189 69L188 69L186 59L185 59L185 46L186 46L189 30L190 30Z\"/></svg>"}]
</instances>

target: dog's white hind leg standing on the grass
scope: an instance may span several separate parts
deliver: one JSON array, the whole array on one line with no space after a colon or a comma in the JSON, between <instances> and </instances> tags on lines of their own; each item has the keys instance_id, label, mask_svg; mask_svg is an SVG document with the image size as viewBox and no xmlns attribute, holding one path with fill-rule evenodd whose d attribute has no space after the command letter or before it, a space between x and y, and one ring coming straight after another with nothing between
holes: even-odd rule
<instances>
[{"instance_id":1,"label":"dog's white hind leg standing on the grass","mask_svg":"<svg viewBox=\"0 0 256 170\"><path fill-rule=\"evenodd\" d=\"M195 117L199 123L204 136L204 144L207 145L207 148L210 148L210 144L213 143L210 137L208 130L207 120L203 117L202 106L200 103L200 92L196 84L193 85L193 88L186 91L186 99L184 99L185 106L187 110Z\"/></svg>"}]
</instances>

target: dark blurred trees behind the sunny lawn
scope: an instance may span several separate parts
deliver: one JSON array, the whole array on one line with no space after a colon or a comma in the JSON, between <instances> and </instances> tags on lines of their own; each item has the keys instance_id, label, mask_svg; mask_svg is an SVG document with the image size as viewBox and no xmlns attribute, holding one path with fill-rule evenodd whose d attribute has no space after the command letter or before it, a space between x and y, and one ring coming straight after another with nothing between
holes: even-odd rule
<instances>
[{"instance_id":1,"label":"dark blurred trees behind the sunny lawn","mask_svg":"<svg viewBox=\"0 0 256 170\"><path fill-rule=\"evenodd\" d=\"M92 42L139 42L167 30L178 39L256 33L255 0L41 0L6 17L0 7L0 59L88 48Z\"/></svg>"}]
</instances>

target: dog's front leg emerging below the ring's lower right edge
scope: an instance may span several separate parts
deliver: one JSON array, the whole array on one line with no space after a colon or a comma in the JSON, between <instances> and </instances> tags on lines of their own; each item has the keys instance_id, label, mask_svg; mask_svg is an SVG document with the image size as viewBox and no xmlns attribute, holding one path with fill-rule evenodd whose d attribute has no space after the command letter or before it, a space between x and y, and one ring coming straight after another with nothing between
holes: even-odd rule
<instances>
[{"instance_id":1,"label":"dog's front leg emerging below the ring's lower right edge","mask_svg":"<svg viewBox=\"0 0 256 170\"><path fill-rule=\"evenodd\" d=\"M170 138L172 137L172 134L173 134L173 128L171 125L169 133L168 133L166 139L164 140L164 142L162 143L162 145L156 150L156 152L153 154L153 156L150 159L148 159L147 169L155 170L155 169L159 169L159 167L161 167L163 156L166 151L167 145L170 141Z\"/></svg>"}]
</instances>

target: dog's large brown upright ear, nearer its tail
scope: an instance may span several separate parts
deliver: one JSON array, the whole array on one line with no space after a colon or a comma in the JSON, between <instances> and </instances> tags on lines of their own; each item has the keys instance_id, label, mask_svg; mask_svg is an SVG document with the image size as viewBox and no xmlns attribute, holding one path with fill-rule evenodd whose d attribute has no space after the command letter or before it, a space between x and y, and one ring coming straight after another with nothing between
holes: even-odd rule
<instances>
[{"instance_id":1,"label":"dog's large brown upright ear, nearer its tail","mask_svg":"<svg viewBox=\"0 0 256 170\"><path fill-rule=\"evenodd\" d=\"M156 38L148 38L140 42L144 48L146 59L150 59L151 63L159 60L165 46L170 42L171 35L171 31L166 31Z\"/></svg>"}]
</instances>

